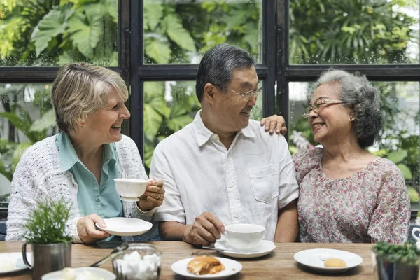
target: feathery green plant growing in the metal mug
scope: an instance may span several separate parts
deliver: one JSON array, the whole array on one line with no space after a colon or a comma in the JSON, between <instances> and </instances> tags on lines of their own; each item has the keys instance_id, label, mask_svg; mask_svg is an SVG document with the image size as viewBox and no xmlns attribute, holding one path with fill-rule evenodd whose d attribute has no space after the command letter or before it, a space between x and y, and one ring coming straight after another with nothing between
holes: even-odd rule
<instances>
[{"instance_id":1,"label":"feathery green plant growing in the metal mug","mask_svg":"<svg viewBox=\"0 0 420 280\"><path fill-rule=\"evenodd\" d=\"M53 201L51 198L38 204L29 214L25 240L30 244L53 244L71 241L65 233L71 205L64 198Z\"/></svg>"}]
</instances>

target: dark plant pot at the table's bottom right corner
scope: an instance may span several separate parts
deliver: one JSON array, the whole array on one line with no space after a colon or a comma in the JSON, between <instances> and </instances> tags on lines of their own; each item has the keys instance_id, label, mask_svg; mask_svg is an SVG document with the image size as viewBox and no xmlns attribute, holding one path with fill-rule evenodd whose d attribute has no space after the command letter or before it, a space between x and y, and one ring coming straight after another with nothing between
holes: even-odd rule
<instances>
[{"instance_id":1,"label":"dark plant pot at the table's bottom right corner","mask_svg":"<svg viewBox=\"0 0 420 280\"><path fill-rule=\"evenodd\" d=\"M391 262L386 255L372 254L374 274L379 280L417 280L419 265L408 265L405 262Z\"/></svg>"}]
</instances>

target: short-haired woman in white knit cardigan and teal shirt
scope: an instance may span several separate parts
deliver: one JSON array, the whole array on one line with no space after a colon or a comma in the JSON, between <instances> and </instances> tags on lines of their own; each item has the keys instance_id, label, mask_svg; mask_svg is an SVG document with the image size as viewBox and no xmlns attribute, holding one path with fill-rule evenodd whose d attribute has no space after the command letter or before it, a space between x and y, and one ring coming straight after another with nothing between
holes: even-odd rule
<instances>
[{"instance_id":1,"label":"short-haired woman in white knit cardigan and teal shirt","mask_svg":"<svg viewBox=\"0 0 420 280\"><path fill-rule=\"evenodd\" d=\"M71 203L66 232L74 242L109 237L95 228L103 218L151 220L165 197L163 181L149 180L139 202L120 201L113 179L147 179L139 151L121 134L130 118L128 90L117 73L99 66L62 66L52 85L52 103L61 133L25 151L13 174L6 240L25 234L27 214L39 202L64 197Z\"/></svg>"}]
</instances>

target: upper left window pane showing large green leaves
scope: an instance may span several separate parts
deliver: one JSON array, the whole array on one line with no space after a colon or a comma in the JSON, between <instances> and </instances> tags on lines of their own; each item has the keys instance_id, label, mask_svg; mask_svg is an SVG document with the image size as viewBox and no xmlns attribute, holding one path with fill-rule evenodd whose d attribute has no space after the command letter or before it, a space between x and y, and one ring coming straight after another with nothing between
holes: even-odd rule
<instances>
[{"instance_id":1,"label":"upper left window pane showing large green leaves","mask_svg":"<svg viewBox=\"0 0 420 280\"><path fill-rule=\"evenodd\" d=\"M118 65L118 0L0 1L0 66Z\"/></svg>"}]
</instances>

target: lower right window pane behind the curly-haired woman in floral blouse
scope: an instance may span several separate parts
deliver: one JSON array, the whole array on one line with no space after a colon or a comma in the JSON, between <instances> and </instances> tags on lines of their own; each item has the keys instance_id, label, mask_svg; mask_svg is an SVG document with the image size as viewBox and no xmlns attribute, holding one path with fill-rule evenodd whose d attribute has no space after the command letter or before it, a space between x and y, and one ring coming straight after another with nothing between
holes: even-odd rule
<instances>
[{"instance_id":1,"label":"lower right window pane behind the curly-haired woman in floral blouse","mask_svg":"<svg viewBox=\"0 0 420 280\"><path fill-rule=\"evenodd\" d=\"M420 210L420 83L372 83L381 92L380 140L368 148L376 155L392 160L405 177L412 210ZM290 150L316 145L308 120L302 117L308 106L307 97L314 83L289 83ZM398 155L398 156L396 156Z\"/></svg>"}]
</instances>

